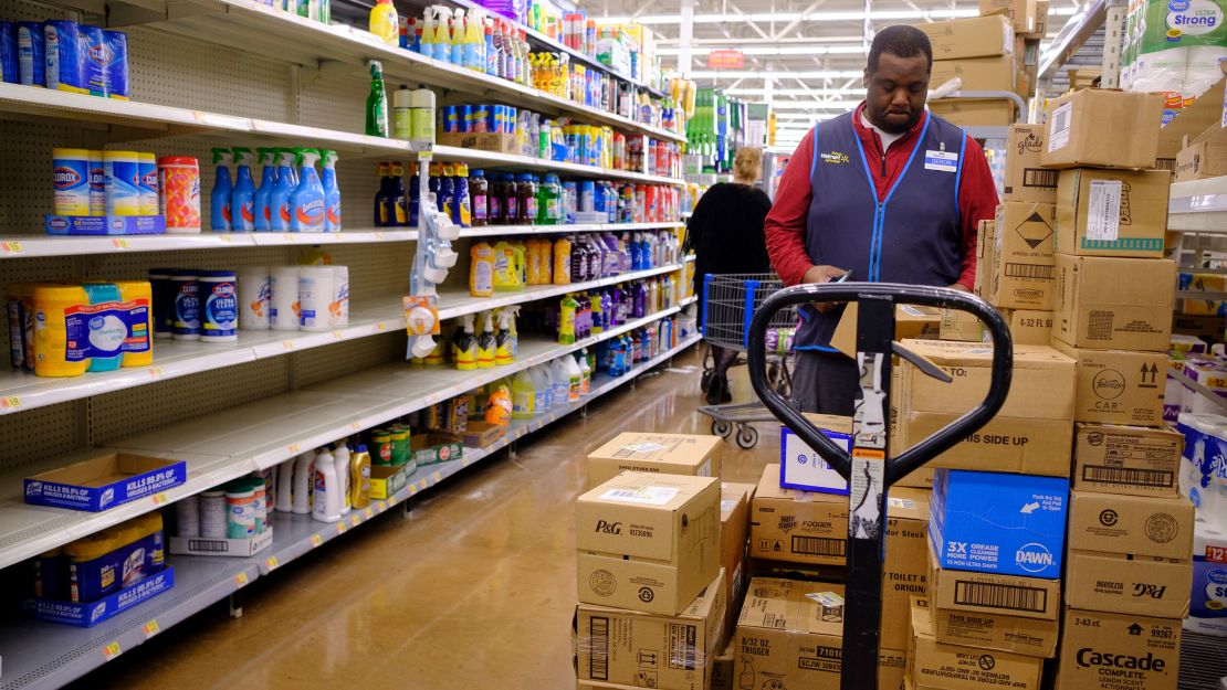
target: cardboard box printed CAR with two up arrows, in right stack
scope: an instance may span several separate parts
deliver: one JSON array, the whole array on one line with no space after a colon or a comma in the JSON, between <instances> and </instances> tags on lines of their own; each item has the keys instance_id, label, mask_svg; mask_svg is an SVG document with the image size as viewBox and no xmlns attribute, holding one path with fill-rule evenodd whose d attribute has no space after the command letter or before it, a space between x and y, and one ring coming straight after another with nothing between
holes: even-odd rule
<instances>
[{"instance_id":1,"label":"cardboard box printed CAR with two up arrows, in right stack","mask_svg":"<svg viewBox=\"0 0 1227 690\"><path fill-rule=\"evenodd\" d=\"M1077 362L1075 422L1163 424L1166 352L1086 349L1060 341L1054 341L1053 346Z\"/></svg>"}]
</instances>

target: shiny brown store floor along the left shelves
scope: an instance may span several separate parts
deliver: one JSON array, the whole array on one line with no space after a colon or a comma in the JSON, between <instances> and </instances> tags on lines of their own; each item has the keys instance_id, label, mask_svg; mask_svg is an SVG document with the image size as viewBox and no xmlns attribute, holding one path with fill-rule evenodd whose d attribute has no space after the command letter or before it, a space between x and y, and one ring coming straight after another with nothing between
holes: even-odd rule
<instances>
[{"instance_id":1,"label":"shiny brown store floor along the left shelves","mask_svg":"<svg viewBox=\"0 0 1227 690\"><path fill-rule=\"evenodd\" d=\"M259 578L243 616L217 605L133 650L74 690L561 690L574 688L572 505L585 455L623 430L707 434L691 351L442 484L412 505ZM734 370L736 400L752 392ZM757 482L779 457L761 427L729 445L724 478Z\"/></svg>"}]
</instances>

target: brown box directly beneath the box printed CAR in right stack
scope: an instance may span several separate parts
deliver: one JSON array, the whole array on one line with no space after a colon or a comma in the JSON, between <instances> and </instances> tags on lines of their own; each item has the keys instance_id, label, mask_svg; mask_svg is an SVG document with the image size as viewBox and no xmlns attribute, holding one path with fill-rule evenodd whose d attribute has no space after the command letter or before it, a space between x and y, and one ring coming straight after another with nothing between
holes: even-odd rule
<instances>
[{"instance_id":1,"label":"brown box directly beneath the box printed CAR in right stack","mask_svg":"<svg viewBox=\"0 0 1227 690\"><path fill-rule=\"evenodd\" d=\"M1075 425L1072 487L1080 491L1175 498L1184 435L1171 427Z\"/></svg>"}]
</instances>

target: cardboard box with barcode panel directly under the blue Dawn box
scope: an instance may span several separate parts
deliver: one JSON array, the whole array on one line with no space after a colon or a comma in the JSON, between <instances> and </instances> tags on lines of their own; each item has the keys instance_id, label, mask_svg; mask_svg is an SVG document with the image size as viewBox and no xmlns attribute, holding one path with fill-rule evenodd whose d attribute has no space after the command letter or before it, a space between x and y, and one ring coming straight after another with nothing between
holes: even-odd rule
<instances>
[{"instance_id":1,"label":"cardboard box with barcode panel directly under the blue Dawn box","mask_svg":"<svg viewBox=\"0 0 1227 690\"><path fill-rule=\"evenodd\" d=\"M939 609L1056 620L1061 581L946 570L930 548L929 601Z\"/></svg>"}]
</instances>

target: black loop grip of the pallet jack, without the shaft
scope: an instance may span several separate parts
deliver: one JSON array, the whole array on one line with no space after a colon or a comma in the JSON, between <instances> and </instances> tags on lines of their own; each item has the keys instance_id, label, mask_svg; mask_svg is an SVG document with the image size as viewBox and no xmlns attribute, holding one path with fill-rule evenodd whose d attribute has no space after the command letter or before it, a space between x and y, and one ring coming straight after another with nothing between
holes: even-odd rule
<instances>
[{"instance_id":1,"label":"black loop grip of the pallet jack, without the shaft","mask_svg":"<svg viewBox=\"0 0 1227 690\"><path fill-rule=\"evenodd\" d=\"M957 309L983 321L993 336L993 371L989 391L974 409L939 429L931 436L897 455L886 466L886 487L907 477L934 457L984 427L1005 403L1010 392L1014 365L1014 343L1010 331L996 313L980 298L951 288L930 288L898 283L822 283L785 288L767 298L756 310L750 325L750 382L763 404L811 449L817 451L844 479L850 480L850 455L827 439L800 411L794 408L767 381L767 328L772 316L787 308L812 301L883 300L893 304ZM893 313L893 309L892 309Z\"/></svg>"}]
</instances>

